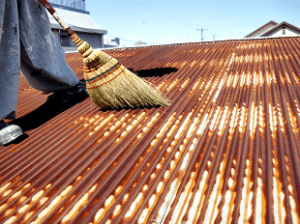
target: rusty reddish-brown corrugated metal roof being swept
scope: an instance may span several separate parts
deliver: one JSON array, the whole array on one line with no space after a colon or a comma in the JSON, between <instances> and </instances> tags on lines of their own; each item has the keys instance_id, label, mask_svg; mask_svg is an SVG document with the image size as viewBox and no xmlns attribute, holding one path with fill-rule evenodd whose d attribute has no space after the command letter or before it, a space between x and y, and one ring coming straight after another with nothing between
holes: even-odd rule
<instances>
[{"instance_id":1,"label":"rusty reddish-brown corrugated metal roof being swept","mask_svg":"<svg viewBox=\"0 0 300 224\"><path fill-rule=\"evenodd\" d=\"M0 223L300 223L298 38L107 52L171 106L46 118L21 79L28 137L0 148Z\"/></svg>"}]
</instances>

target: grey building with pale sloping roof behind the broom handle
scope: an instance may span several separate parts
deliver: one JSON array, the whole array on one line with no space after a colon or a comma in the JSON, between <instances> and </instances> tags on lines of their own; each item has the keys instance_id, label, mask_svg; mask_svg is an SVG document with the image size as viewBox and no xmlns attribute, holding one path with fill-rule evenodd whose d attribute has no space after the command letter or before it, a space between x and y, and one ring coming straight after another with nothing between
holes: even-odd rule
<instances>
[{"instance_id":1,"label":"grey building with pale sloping roof behind the broom handle","mask_svg":"<svg viewBox=\"0 0 300 224\"><path fill-rule=\"evenodd\" d=\"M87 41L93 48L104 47L103 35L106 34L107 31L100 29L100 26L93 20L89 12L54 3L51 3L51 5L57 11L57 14L81 39ZM48 16L50 19L51 30L64 50L76 50L76 45L71 41L67 33L49 13Z\"/></svg>"}]
</instances>

